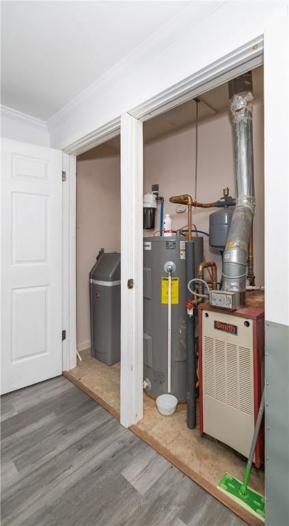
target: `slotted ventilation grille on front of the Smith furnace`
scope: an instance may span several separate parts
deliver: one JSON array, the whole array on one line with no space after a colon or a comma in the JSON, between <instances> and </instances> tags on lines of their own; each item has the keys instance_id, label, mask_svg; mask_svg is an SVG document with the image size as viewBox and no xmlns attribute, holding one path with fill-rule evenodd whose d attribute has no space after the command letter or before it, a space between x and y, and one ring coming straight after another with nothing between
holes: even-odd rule
<instances>
[{"instance_id":1,"label":"slotted ventilation grille on front of the Smith furnace","mask_svg":"<svg viewBox=\"0 0 289 526\"><path fill-rule=\"evenodd\" d=\"M252 351L204 336L204 395L251 415Z\"/></svg>"}]
</instances>

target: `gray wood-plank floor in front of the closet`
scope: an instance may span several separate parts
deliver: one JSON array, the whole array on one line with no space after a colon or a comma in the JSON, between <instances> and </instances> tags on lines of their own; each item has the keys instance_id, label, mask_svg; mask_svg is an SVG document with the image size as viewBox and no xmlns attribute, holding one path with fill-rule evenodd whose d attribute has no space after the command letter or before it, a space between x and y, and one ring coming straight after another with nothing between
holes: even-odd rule
<instances>
[{"instance_id":1,"label":"gray wood-plank floor in front of the closet","mask_svg":"<svg viewBox=\"0 0 289 526\"><path fill-rule=\"evenodd\" d=\"M64 377L1 398L2 526L241 526Z\"/></svg>"}]
</instances>

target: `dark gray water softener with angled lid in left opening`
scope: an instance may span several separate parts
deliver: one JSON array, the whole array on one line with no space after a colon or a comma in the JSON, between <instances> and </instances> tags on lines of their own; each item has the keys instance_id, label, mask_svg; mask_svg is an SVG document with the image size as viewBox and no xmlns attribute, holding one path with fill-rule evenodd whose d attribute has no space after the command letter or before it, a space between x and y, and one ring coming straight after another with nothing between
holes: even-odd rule
<instances>
[{"instance_id":1,"label":"dark gray water softener with angled lid in left opening","mask_svg":"<svg viewBox=\"0 0 289 526\"><path fill-rule=\"evenodd\" d=\"M102 252L90 271L92 356L113 365L120 362L120 253Z\"/></svg>"}]
</instances>

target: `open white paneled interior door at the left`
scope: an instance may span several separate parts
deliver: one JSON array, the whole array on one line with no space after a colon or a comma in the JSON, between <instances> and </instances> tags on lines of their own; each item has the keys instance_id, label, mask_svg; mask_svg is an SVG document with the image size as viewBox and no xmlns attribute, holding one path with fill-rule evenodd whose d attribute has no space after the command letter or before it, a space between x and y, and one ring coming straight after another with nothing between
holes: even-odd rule
<instances>
[{"instance_id":1,"label":"open white paneled interior door at the left","mask_svg":"<svg viewBox=\"0 0 289 526\"><path fill-rule=\"evenodd\" d=\"M62 372L61 151L3 139L1 393Z\"/></svg>"}]
</instances>

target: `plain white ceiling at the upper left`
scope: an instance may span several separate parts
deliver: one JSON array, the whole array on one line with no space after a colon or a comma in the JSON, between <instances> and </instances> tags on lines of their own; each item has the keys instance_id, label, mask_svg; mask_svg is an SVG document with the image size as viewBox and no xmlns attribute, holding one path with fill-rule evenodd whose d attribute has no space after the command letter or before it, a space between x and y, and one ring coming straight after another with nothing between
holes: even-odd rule
<instances>
[{"instance_id":1,"label":"plain white ceiling at the upper left","mask_svg":"<svg viewBox=\"0 0 289 526\"><path fill-rule=\"evenodd\" d=\"M186 1L2 1L1 103L45 121Z\"/></svg>"}]
</instances>

